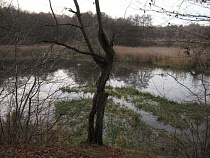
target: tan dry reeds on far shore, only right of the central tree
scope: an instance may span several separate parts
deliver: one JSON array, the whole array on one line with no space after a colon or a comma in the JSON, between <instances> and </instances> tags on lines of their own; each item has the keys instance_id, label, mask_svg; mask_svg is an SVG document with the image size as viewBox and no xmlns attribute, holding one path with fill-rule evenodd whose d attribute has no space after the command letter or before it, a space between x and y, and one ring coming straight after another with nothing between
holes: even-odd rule
<instances>
[{"instance_id":1,"label":"tan dry reeds on far shore, only right of the central tree","mask_svg":"<svg viewBox=\"0 0 210 158\"><path fill-rule=\"evenodd\" d=\"M192 67L197 62L196 51L191 50L190 55L179 47L123 47L115 46L116 59L121 61L132 60L142 63L158 63L161 65L174 65ZM199 58L204 63L210 60L209 51L205 51Z\"/></svg>"}]
</instances>

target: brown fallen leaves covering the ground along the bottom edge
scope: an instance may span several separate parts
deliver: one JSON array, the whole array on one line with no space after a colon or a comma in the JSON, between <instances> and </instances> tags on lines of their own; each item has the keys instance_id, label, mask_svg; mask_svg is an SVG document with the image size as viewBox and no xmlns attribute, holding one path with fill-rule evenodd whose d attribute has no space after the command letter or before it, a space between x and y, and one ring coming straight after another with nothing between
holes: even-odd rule
<instances>
[{"instance_id":1,"label":"brown fallen leaves covering the ground along the bottom edge","mask_svg":"<svg viewBox=\"0 0 210 158\"><path fill-rule=\"evenodd\" d=\"M60 148L45 144L16 144L8 146L0 146L0 157L15 158L91 158L91 157L107 157L107 158L124 158L124 157L149 157L140 156L136 153L125 152L121 149L109 146L90 145L80 143L75 147Z\"/></svg>"}]
</instances>

